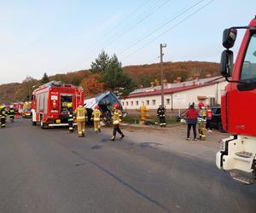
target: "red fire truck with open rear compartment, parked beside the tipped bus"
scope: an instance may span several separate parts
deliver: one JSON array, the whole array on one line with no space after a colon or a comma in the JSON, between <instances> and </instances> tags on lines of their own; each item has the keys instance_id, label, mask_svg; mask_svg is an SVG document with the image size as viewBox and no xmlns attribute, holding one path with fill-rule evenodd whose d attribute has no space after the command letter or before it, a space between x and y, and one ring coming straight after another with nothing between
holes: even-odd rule
<instances>
[{"instance_id":1,"label":"red fire truck with open rear compartment, parked beside the tipped bus","mask_svg":"<svg viewBox=\"0 0 256 213\"><path fill-rule=\"evenodd\" d=\"M67 104L73 110L84 102L84 90L71 84L52 81L45 83L32 93L32 124L40 123L42 129L67 124Z\"/></svg>"}]
</instances>

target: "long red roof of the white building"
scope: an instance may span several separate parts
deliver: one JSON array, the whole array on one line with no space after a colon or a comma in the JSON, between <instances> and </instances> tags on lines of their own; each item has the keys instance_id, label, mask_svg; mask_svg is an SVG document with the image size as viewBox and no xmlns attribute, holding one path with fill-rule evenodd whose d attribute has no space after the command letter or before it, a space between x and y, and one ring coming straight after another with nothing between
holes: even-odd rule
<instances>
[{"instance_id":1,"label":"long red roof of the white building","mask_svg":"<svg viewBox=\"0 0 256 213\"><path fill-rule=\"evenodd\" d=\"M164 94L174 94L174 93L182 92L182 91L189 90L189 89L197 89L197 88L201 88L201 87L207 87L209 85L219 83L219 82L223 82L223 81L224 80L222 79L222 80L218 80L218 81L212 81L212 82L209 82L209 83L195 84L195 85L189 85L189 86L180 86L180 87L175 87L175 88L170 88L170 89L164 89ZM161 89L152 88L150 91L132 93L132 94L126 96L125 99L126 98L150 96L150 95L160 95L160 94L161 94Z\"/></svg>"}]
</instances>

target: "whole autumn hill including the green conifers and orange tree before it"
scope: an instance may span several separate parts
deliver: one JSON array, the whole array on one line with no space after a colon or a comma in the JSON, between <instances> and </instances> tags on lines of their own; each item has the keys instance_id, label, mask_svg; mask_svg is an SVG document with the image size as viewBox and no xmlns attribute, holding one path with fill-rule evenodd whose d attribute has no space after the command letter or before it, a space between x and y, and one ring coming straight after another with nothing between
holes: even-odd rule
<instances>
[{"instance_id":1,"label":"whole autumn hill including the green conifers and orange tree before it","mask_svg":"<svg viewBox=\"0 0 256 213\"><path fill-rule=\"evenodd\" d=\"M164 76L168 83L194 78L207 78L219 75L219 64L207 61L165 62ZM26 101L31 97L32 90L48 81L61 81L83 86L85 97L110 89L116 95L129 94L133 89L148 87L160 83L160 64L122 66L116 55L109 56L102 51L98 58L91 63L90 70L67 72L47 76L42 79L27 77L22 83L6 83L0 85L0 102Z\"/></svg>"}]
</instances>

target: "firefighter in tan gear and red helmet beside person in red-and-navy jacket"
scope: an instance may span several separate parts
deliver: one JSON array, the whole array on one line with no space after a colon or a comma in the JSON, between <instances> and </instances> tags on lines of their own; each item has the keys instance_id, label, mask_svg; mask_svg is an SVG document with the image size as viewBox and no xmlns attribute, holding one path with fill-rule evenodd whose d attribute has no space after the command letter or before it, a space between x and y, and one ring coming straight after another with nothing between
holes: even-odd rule
<instances>
[{"instance_id":1,"label":"firefighter in tan gear and red helmet beside person in red-and-navy jacket","mask_svg":"<svg viewBox=\"0 0 256 213\"><path fill-rule=\"evenodd\" d=\"M199 139L201 141L206 140L206 123L207 123L207 112L205 110L204 103L199 103L199 112L197 117Z\"/></svg>"}]
</instances>

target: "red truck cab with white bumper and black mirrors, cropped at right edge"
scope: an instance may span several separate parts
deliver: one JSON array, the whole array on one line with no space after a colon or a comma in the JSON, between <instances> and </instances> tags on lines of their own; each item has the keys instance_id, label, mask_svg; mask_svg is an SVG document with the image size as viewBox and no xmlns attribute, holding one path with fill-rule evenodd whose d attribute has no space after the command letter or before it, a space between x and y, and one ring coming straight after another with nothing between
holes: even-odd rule
<instances>
[{"instance_id":1,"label":"red truck cab with white bumper and black mirrors, cropped at right edge","mask_svg":"<svg viewBox=\"0 0 256 213\"><path fill-rule=\"evenodd\" d=\"M233 67L233 47L237 29L245 29ZM243 183L256 182L256 17L248 26L224 30L221 73L229 82L222 95L221 113L229 138L221 141L216 164L230 170L231 176Z\"/></svg>"}]
</instances>

